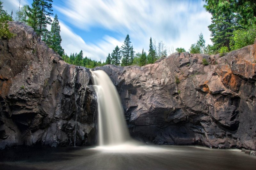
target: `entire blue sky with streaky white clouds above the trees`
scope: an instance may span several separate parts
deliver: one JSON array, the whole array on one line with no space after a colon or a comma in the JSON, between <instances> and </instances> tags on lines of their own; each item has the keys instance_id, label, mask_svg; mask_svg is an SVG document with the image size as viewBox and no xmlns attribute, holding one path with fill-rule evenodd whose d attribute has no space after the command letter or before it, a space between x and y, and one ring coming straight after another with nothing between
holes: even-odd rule
<instances>
[{"instance_id":1,"label":"entire blue sky with streaky white clouds above the trees","mask_svg":"<svg viewBox=\"0 0 256 170\"><path fill-rule=\"evenodd\" d=\"M1 1L15 15L19 1ZM21 0L21 6L32 2ZM150 37L163 41L170 53L180 47L188 51L201 32L206 45L212 44L211 14L203 5L202 0L53 0L52 18L58 15L65 53L83 50L84 56L103 62L127 34L136 52L148 51Z\"/></svg>"}]
</instances>

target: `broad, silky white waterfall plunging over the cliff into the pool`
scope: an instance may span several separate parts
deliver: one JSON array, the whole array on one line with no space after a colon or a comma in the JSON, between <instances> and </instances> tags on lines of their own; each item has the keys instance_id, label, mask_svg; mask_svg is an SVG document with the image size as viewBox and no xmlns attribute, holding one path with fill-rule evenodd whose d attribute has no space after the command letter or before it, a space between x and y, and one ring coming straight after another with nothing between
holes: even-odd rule
<instances>
[{"instance_id":1,"label":"broad, silky white waterfall plunging over the cliff into the pool","mask_svg":"<svg viewBox=\"0 0 256 170\"><path fill-rule=\"evenodd\" d=\"M116 87L102 70L92 71L98 100L98 140L100 146L123 144L130 140Z\"/></svg>"}]
</instances>

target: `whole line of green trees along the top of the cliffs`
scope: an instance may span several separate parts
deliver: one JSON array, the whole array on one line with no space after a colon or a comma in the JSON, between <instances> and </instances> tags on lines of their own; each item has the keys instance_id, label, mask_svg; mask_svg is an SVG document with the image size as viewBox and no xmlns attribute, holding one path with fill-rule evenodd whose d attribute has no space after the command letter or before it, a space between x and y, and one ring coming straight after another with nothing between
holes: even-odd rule
<instances>
[{"instance_id":1,"label":"whole line of green trees along the top of the cliffs","mask_svg":"<svg viewBox=\"0 0 256 170\"><path fill-rule=\"evenodd\" d=\"M190 53L218 54L242 48L253 44L256 38L256 3L255 0L205 0L204 8L212 14L212 24L208 26L211 32L213 45L205 45L204 36L200 33L196 43L189 48ZM20 0L19 0L20 2ZM57 14L52 21L52 0L33 0L31 7L25 5L16 11L8 14L3 10L0 1L0 37L9 39L14 36L8 30L8 21L17 20L23 22L36 31L38 36L45 43L54 49L63 60L70 64L81 65L88 68L102 66L105 64L115 64L121 66L139 65L143 66L154 63L161 57L167 56L168 48L163 41L156 43L149 40L148 54L144 49L135 53L129 34L127 34L124 44L119 48L116 46L112 53L108 53L106 61L92 60L83 56L81 50L79 54L65 54L61 47L60 25ZM47 30L47 25L51 25L51 30ZM176 52L186 52L184 48L176 48ZM169 54L173 52L173 47Z\"/></svg>"}]
</instances>

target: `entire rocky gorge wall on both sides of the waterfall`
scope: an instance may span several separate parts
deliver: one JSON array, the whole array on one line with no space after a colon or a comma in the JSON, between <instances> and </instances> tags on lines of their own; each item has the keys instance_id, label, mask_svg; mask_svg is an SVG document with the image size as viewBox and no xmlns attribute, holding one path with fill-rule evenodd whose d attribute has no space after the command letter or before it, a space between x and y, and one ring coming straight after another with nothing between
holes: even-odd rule
<instances>
[{"instance_id":1,"label":"entire rocky gorge wall on both sides of the waterfall","mask_svg":"<svg viewBox=\"0 0 256 170\"><path fill-rule=\"evenodd\" d=\"M75 132L77 145L95 144L90 71L65 63L31 27L9 29L16 36L0 40L0 148L74 145ZM256 42L224 56L174 53L95 69L116 86L133 138L256 150Z\"/></svg>"}]
</instances>

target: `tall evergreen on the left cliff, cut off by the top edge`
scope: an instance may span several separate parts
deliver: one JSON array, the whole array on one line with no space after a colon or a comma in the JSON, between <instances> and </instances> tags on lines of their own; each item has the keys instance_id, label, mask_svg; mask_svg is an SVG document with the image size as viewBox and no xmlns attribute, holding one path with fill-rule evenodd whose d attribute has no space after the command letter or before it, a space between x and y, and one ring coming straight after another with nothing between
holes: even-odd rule
<instances>
[{"instance_id":1,"label":"tall evergreen on the left cliff, cut off by the top edge","mask_svg":"<svg viewBox=\"0 0 256 170\"><path fill-rule=\"evenodd\" d=\"M32 26L39 36L47 32L47 24L51 24L52 0L33 0L32 8L28 7L28 25Z\"/></svg>"}]
</instances>

